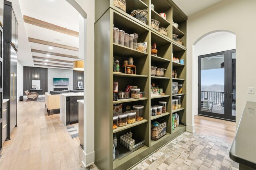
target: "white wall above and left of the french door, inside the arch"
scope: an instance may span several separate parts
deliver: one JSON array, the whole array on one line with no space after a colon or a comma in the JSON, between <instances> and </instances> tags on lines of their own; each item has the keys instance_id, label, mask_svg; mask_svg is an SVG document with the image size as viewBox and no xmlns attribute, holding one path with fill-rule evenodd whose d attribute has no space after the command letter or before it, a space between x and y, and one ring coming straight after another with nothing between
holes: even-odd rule
<instances>
[{"instance_id":1,"label":"white wall above and left of the french door, inside the arch","mask_svg":"<svg viewBox=\"0 0 256 170\"><path fill-rule=\"evenodd\" d=\"M193 87L198 84L198 56L221 51L228 51L236 49L236 35L229 32L216 32L202 38L194 46L194 60L193 60ZM198 88L193 88L193 113L198 114Z\"/></svg>"}]
</instances>

